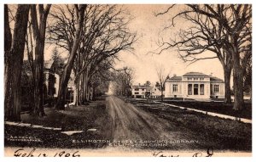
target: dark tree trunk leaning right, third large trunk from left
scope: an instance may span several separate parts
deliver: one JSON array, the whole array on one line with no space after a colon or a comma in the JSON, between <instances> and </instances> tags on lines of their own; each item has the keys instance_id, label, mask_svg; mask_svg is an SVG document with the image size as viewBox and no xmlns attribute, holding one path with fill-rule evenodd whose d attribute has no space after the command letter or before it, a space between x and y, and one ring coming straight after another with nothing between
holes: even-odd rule
<instances>
[{"instance_id":1,"label":"dark tree trunk leaning right, third large trunk from left","mask_svg":"<svg viewBox=\"0 0 256 162\"><path fill-rule=\"evenodd\" d=\"M65 98L65 93L67 89L67 83L73 68L73 62L74 59L76 58L77 55L77 49L79 47L79 42L80 42L80 36L81 36L81 31L83 27L83 22L84 22L84 10L86 8L86 4L81 4L80 9L76 9L77 14L79 15L79 25L78 28L76 29L75 37L74 37L74 42L73 42L73 47L70 53L70 56L67 60L67 64L63 70L62 76L61 76L61 81L60 81L60 88L58 92L58 99L57 103L55 105L56 109L65 109L64 105L66 102Z\"/></svg>"}]
</instances>

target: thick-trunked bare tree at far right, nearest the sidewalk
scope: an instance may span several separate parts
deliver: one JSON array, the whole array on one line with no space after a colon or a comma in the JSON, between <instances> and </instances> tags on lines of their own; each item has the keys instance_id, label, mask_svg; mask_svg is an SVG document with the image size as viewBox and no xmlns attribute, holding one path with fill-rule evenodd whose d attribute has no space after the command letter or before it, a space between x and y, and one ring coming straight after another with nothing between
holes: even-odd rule
<instances>
[{"instance_id":1,"label":"thick-trunked bare tree at far right, nearest the sidewalk","mask_svg":"<svg viewBox=\"0 0 256 162\"><path fill-rule=\"evenodd\" d=\"M233 109L243 109L243 60L252 55L252 5L237 4L230 5L231 19L222 13L221 22L224 25L229 40L226 40L226 47L233 59L233 82L235 103ZM224 17L224 18L223 18Z\"/></svg>"}]
</instances>

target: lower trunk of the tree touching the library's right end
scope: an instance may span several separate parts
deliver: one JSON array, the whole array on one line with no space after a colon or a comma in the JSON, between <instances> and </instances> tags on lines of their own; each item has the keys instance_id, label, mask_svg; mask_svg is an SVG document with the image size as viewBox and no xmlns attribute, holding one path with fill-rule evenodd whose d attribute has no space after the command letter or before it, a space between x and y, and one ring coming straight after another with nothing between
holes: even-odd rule
<instances>
[{"instance_id":1,"label":"lower trunk of the tree touching the library's right end","mask_svg":"<svg viewBox=\"0 0 256 162\"><path fill-rule=\"evenodd\" d=\"M224 67L225 103L231 103L230 75L231 68Z\"/></svg>"}]
</instances>

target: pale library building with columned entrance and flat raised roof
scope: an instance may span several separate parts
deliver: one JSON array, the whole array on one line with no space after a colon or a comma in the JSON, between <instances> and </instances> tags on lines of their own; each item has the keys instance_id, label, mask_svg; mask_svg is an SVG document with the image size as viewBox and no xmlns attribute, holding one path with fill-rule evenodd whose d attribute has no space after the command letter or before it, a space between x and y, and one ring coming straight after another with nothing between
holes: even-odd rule
<instances>
[{"instance_id":1,"label":"pale library building with columned entrance and flat raised roof","mask_svg":"<svg viewBox=\"0 0 256 162\"><path fill-rule=\"evenodd\" d=\"M166 81L165 98L224 98L224 81L212 75L189 72Z\"/></svg>"}]
</instances>

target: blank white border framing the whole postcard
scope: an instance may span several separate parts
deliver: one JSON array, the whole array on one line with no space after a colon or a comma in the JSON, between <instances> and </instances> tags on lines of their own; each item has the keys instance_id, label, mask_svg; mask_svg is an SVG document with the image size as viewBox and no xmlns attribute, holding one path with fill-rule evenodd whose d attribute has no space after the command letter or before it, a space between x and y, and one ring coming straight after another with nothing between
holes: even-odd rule
<instances>
[{"instance_id":1,"label":"blank white border framing the whole postcard","mask_svg":"<svg viewBox=\"0 0 256 162\"><path fill-rule=\"evenodd\" d=\"M1 13L1 22L2 24L0 25L0 31L2 32L3 34L3 4L4 3L136 3L136 4L141 4L141 3L151 3L151 4L165 4L165 3L253 3L253 0L228 0L228 1L223 1L223 0L215 0L215 1L202 1L202 0L196 0L196 1L187 1L187 0L176 0L176 1L173 1L173 0L157 0L157 1L143 1L143 0L131 0L131 1L127 1L127 0L112 0L112 1L109 1L109 0L101 0L101 1L98 1L98 0L79 0L79 1L71 1L71 0L47 0L47 1L41 1L41 2L38 2L38 1L34 1L34 0L3 0L1 1L1 7L0 7L0 13ZM255 19L254 19L254 16L255 16L255 8L254 8L254 4L253 4L253 22L255 22ZM254 25L253 25L253 29L254 29ZM3 36L3 35L2 35ZM253 37L255 36L254 34L254 30L253 30ZM254 42L254 41L253 41ZM2 54L0 54L0 59L1 59L1 62L0 62L0 75L2 75L2 78L0 80L0 89L2 90L0 92L0 98L1 98L1 109L2 109L2 112L4 111L3 110L3 102L4 102L4 98L3 98L3 37L1 39L1 44L0 44L0 48L1 48L1 51L2 51ZM254 47L253 47L254 49ZM254 63L254 61L253 61ZM253 64L253 67L254 67L254 64ZM254 69L254 68L253 68ZM254 70L253 70L254 71ZM253 74L253 81L255 81L255 76ZM254 87L254 86L253 86ZM253 88L253 94L255 94L255 88ZM253 95L253 100L254 100L254 95ZM21 161L56 161L56 160L60 160L60 159L54 159L54 158L47 158L47 159L33 159L33 158L30 158L30 159L27 159L27 158L24 158L24 159L16 159L16 158L3 158L3 133L4 133L4 129L3 129L3 114L4 113L0 113L0 118L2 119L1 120L1 127L0 127L0 130L2 130L2 133L1 133L1 139L2 139L2 142L0 142L0 161L17 161L19 160L20 162ZM255 116L255 110L253 110L253 119L254 119L254 116ZM253 135L255 134L255 125L253 124ZM253 139L253 146L256 146L256 142L255 140ZM254 153L254 147L253 147L253 153ZM254 159L254 160L253 160ZM191 159L191 158L172 158L172 159L169 159L169 158L105 158L105 157L97 157L97 158L79 158L79 159L61 159L61 161L70 161L70 160L73 160L73 161L131 161L131 160L143 160L143 161L147 161L147 162L151 162L151 161L223 161L223 160L229 160L229 161L232 161L232 162L241 162L241 161L255 161L255 154L253 154L253 158L210 158L210 159L206 159L206 158L197 158L197 159Z\"/></svg>"}]
</instances>

